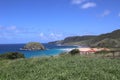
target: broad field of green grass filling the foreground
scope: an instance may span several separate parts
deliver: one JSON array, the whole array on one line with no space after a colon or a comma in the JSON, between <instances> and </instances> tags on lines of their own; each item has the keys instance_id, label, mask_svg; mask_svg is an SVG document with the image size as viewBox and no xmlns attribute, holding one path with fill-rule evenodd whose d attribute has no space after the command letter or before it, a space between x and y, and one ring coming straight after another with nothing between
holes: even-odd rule
<instances>
[{"instance_id":1,"label":"broad field of green grass filling the foreground","mask_svg":"<svg viewBox=\"0 0 120 80\"><path fill-rule=\"evenodd\" d=\"M120 80L120 60L81 56L1 60L0 80Z\"/></svg>"}]
</instances>

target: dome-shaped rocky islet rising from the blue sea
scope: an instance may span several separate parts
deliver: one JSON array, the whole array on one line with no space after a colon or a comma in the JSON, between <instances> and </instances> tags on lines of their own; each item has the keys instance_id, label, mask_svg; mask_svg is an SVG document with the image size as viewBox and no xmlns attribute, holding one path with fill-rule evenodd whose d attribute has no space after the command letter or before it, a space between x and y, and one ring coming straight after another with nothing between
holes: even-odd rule
<instances>
[{"instance_id":1,"label":"dome-shaped rocky islet rising from the blue sea","mask_svg":"<svg viewBox=\"0 0 120 80\"><path fill-rule=\"evenodd\" d=\"M45 47L39 42L29 42L23 47L23 50L45 50Z\"/></svg>"}]
</instances>

